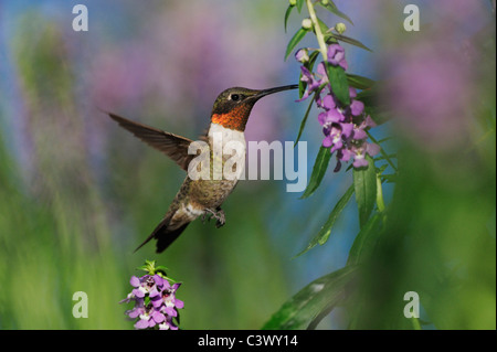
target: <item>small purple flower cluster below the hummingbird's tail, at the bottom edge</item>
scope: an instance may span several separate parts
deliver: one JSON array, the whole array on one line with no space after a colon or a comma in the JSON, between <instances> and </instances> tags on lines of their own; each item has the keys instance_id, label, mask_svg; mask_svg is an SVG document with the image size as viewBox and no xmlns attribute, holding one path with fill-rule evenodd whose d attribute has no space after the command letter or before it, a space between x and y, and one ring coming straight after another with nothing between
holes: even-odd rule
<instances>
[{"instance_id":1,"label":"small purple flower cluster below the hummingbird's tail, at the bottom edge","mask_svg":"<svg viewBox=\"0 0 497 352\"><path fill-rule=\"evenodd\" d=\"M135 307L125 313L131 320L138 318L136 329L178 330L173 318L179 321L178 309L184 306L176 298L176 291L181 284L171 286L161 270L154 269L141 277L131 276L129 284L134 289L120 303L135 302Z\"/></svg>"}]
</instances>

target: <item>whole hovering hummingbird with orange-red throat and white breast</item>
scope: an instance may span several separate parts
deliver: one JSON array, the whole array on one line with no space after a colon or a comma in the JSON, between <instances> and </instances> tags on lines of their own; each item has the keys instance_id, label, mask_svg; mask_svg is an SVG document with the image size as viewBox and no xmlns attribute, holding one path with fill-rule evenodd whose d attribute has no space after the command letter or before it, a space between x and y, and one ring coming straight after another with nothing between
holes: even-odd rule
<instances>
[{"instance_id":1,"label":"whole hovering hummingbird with orange-red throat and white breast","mask_svg":"<svg viewBox=\"0 0 497 352\"><path fill-rule=\"evenodd\" d=\"M246 151L244 131L254 104L266 95L295 88L298 88L298 85L286 85L260 90L242 87L232 87L223 90L214 102L207 135L200 137L210 147L210 161L216 158L213 153L213 139L218 135L222 137L223 147L230 141L241 142L243 150L240 158L243 158L244 162ZM189 146L193 140L128 120L112 113L108 113L108 115L120 127L168 156L188 172L190 162L197 157L197 154L188 152ZM222 156L221 159L224 166L226 157ZM210 174L212 174L212 169L210 171ZM163 218L135 252L152 238L157 239L157 253L163 252L199 216L202 216L202 220L214 217L216 227L223 226L225 215L221 205L233 191L237 181L239 178L225 179L224 177L221 179L197 180L187 174Z\"/></svg>"}]
</instances>

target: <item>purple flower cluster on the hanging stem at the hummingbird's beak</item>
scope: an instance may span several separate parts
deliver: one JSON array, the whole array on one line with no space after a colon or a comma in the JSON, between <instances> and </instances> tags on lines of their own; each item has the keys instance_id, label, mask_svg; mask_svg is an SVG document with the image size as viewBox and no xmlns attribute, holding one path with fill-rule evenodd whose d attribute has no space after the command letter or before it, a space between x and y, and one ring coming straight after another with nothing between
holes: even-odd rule
<instances>
[{"instance_id":1,"label":"purple flower cluster on the hanging stem at the hummingbird's beak","mask_svg":"<svg viewBox=\"0 0 497 352\"><path fill-rule=\"evenodd\" d=\"M339 44L328 46L327 61L332 66L348 68L345 50ZM297 61L305 63L308 60L307 50L300 49L295 54ZM325 139L322 146L330 148L330 152L337 152L337 166L335 172L341 169L341 162L353 160L355 168L368 166L366 154L374 157L380 151L378 145L368 142L366 131L376 124L364 111L364 104L358 99L356 88L349 87L350 104L341 104L331 89L328 81L325 63L321 62L313 73L305 65L300 67L302 81L306 83L306 90L298 102L308 98L315 93L317 106L322 109L318 115L318 121L322 126ZM324 96L322 96L324 95ZM322 97L321 97L322 96Z\"/></svg>"}]
</instances>

